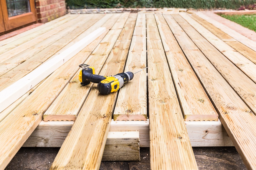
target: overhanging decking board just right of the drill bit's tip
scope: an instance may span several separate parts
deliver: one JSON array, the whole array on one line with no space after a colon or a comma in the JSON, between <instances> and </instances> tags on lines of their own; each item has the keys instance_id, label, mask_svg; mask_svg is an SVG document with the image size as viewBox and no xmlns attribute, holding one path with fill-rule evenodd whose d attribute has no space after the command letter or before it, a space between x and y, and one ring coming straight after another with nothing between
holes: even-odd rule
<instances>
[{"instance_id":1,"label":"overhanging decking board just right of the drill bit's tip","mask_svg":"<svg viewBox=\"0 0 256 170\"><path fill-rule=\"evenodd\" d=\"M151 169L198 169L154 15L146 15Z\"/></svg>"}]
</instances>

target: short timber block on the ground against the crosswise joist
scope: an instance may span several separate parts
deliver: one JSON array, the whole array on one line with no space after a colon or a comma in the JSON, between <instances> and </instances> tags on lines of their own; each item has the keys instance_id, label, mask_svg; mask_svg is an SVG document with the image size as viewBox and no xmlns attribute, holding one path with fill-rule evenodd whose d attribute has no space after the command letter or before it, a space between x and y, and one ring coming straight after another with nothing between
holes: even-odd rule
<instances>
[{"instance_id":1,"label":"short timber block on the ground against the crosswise joist","mask_svg":"<svg viewBox=\"0 0 256 170\"><path fill-rule=\"evenodd\" d=\"M109 132L102 161L140 161L139 132Z\"/></svg>"}]
</instances>

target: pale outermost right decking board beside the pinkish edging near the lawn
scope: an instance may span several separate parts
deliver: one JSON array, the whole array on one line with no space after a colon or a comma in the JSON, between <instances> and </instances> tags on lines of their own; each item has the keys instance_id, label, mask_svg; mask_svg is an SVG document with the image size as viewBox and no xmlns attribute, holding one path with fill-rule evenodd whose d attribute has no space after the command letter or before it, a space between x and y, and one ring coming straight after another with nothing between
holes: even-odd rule
<instances>
[{"instance_id":1,"label":"pale outermost right decking board beside the pinkish edging near the lawn","mask_svg":"<svg viewBox=\"0 0 256 170\"><path fill-rule=\"evenodd\" d=\"M230 35L231 37L233 37L234 39L236 39L237 41L243 43L244 45L246 45L247 47L253 49L254 51L256 51L256 42L250 40L249 38L241 35L240 33L232 30L231 28L227 27L226 25L221 24L220 22L202 14L201 12L197 12L196 15L198 15L200 18L206 20L207 22L211 23L212 25L214 25L215 27L219 28L221 31L225 32L226 34Z\"/></svg>"}]
</instances>

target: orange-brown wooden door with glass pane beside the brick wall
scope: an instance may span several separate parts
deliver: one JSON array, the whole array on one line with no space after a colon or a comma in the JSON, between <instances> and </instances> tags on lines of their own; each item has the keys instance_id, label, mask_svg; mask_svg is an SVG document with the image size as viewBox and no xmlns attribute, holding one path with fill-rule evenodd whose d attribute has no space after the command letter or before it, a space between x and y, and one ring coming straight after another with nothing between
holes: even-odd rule
<instances>
[{"instance_id":1,"label":"orange-brown wooden door with glass pane beside the brick wall","mask_svg":"<svg viewBox=\"0 0 256 170\"><path fill-rule=\"evenodd\" d=\"M5 31L36 22L34 0L0 0Z\"/></svg>"}]
</instances>

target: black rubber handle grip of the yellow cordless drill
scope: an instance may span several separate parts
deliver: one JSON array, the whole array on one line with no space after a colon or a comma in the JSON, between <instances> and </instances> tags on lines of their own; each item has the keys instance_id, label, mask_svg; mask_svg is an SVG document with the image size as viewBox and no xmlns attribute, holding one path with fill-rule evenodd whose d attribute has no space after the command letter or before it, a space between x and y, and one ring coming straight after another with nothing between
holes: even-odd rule
<instances>
[{"instance_id":1,"label":"black rubber handle grip of the yellow cordless drill","mask_svg":"<svg viewBox=\"0 0 256 170\"><path fill-rule=\"evenodd\" d=\"M92 69L89 68L89 69L83 69L82 70L82 83L81 85L85 86L85 85L88 85L90 84L90 82L92 83L99 83L101 82L102 80L105 80L106 77L104 76L101 76L101 75L97 75L97 74L92 74Z\"/></svg>"}]
</instances>

